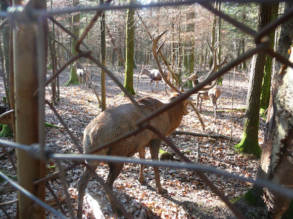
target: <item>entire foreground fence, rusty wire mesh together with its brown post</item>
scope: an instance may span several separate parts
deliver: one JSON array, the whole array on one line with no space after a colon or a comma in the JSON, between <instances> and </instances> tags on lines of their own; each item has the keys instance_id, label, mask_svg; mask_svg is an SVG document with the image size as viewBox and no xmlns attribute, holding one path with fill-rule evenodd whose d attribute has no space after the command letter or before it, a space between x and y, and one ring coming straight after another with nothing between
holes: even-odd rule
<instances>
[{"instance_id":1,"label":"entire foreground fence, rusty wire mesh together with its brown post","mask_svg":"<svg viewBox=\"0 0 293 219\"><path fill-rule=\"evenodd\" d=\"M278 3L279 1L233 1L238 3L244 3L244 2L258 2L258 3ZM141 119L139 119L135 124L136 128L130 132L125 133L122 136L119 136L115 139L111 139L109 142L106 142L102 145L99 145L99 150L95 150L88 154L83 154L83 150L78 144L78 141L75 139L74 135L69 130L67 124L62 120L61 116L58 114L57 110L50 104L50 102L45 101L44 99L44 93L45 93L45 86L49 85L52 80L54 80L67 66L69 66L72 62L78 60L81 57L85 57L92 61L96 66L99 66L101 69L103 69L106 74L117 84L117 86L122 90L122 92L125 93L125 95L129 98L129 100L139 108L136 101L132 97L132 95L129 94L129 92L124 88L124 86L117 80L113 72L111 72L105 65L103 65L98 59L96 59L92 55L92 49L90 46L88 46L84 39L88 32L91 30L93 25L97 22L99 17L102 15L104 11L107 10L125 10L125 9L141 9L141 8L159 8L159 7L177 7L180 5L192 5L194 3L200 4L202 7L206 8L210 12L214 13L215 15L221 17L225 21L232 24L234 27L238 28L239 30L245 32L246 34L252 36L255 40L255 48L245 52L244 54L238 56L236 59L229 61L226 65L224 65L221 69L219 69L216 72L213 72L203 83L198 84L196 87L186 91L185 93L182 93L179 97L174 99L171 103L165 104L164 106L160 107L159 109L155 110L154 112L143 116ZM6 18L4 22L1 24L1 28L3 28L5 25L10 24L11 27L14 29L14 64L15 64L15 86L16 86L16 133L15 137L17 139L17 142L25 142L21 139L26 135L26 132L28 131L25 128L27 127L26 120L22 120L23 113L22 110L29 111L29 114L32 113L34 116L37 114L38 119L32 123L31 125L36 125L37 129L35 130L32 128L34 132L37 133L37 136L35 136L35 139L37 139L38 142L36 144L27 145L26 143L14 143L6 140L0 140L0 143L3 147L3 151L6 153L7 157L9 158L11 164L13 165L13 168L15 168L15 171L24 172L24 174L27 173L28 170L25 170L27 168L32 168L31 166L27 166L26 162L33 162L33 165L39 164L40 166L37 167L36 170L30 169L29 171L38 172L37 174L40 174L42 172L43 164L46 163L48 159L54 159L57 163L57 166L59 168L59 172L45 176L44 171L39 175L39 179L36 181L31 181L32 186L28 186L27 189L23 188L22 183L26 184L25 182L27 178L30 177L24 177L24 179L16 183L13 180L11 180L9 177L7 177L5 174L0 172L0 176L3 177L5 180L7 180L12 186L18 189L19 191L19 215L22 215L23 208L30 208L31 209L37 209L36 212L39 213L38 215L44 215L40 212L44 212L45 210L51 211L52 213L56 214L57 217L65 218L67 217L66 212L69 212L69 215L71 217L75 217L75 209L73 207L72 200L70 198L70 194L68 192L68 185L66 183L65 175L64 173L68 170L71 170L72 168L83 165L86 167L89 171L91 171L91 174L96 178L97 181L99 181L105 190L107 190L107 194L109 194L110 198L114 200L114 202L117 204L118 208L125 214L127 218L131 218L132 216L127 213L127 211L124 209L123 205L120 203L120 201L115 198L113 195L113 192L110 188L107 187L107 185L104 183L103 179L97 175L92 167L90 167L87 163L85 163L85 160L87 162L90 161L96 161L96 162L108 162L110 164L117 163L117 164L123 164L123 163L133 163L133 164L140 164L140 165L151 165L154 167L169 167L169 168L180 168L180 169L188 169L194 171L203 181L206 185L210 187L210 189L217 194L222 201L224 201L228 207L233 211L233 213L239 217L243 218L244 216L242 213L231 204L231 202L228 200L228 198L219 191L219 189L208 179L208 177L204 174L204 172L219 174L226 177L231 177L233 179L238 179L242 181L247 181L250 183L254 183L256 185L260 185L262 187L268 187L273 189L274 191L286 195L287 197L292 198L293 192L289 189L280 187L279 185L275 185L268 181L262 181L262 180L254 180L252 178L247 177L241 177L236 174L232 174L229 172L218 170L214 167L208 167L208 166L202 166L199 164L192 163L183 153L181 153L176 145L174 145L163 133L158 131L156 128L150 125L149 121L152 119L156 119L157 116L161 115L162 113L170 110L172 107L174 107L177 104L180 104L188 99L192 94L197 93L200 89L202 89L204 86L206 86L208 83L211 83L212 81L216 80L223 74L225 74L228 70L233 68L234 66L240 64L243 60L246 60L248 58L251 58L254 54L257 54L259 52L265 52L267 55L270 55L274 58L276 58L277 61L284 63L288 66L293 67L293 64L289 62L285 57L277 54L273 48L271 48L271 43L268 40L267 35L272 29L275 29L279 25L281 25L283 22L286 22L289 18L293 17L293 8L289 9L285 14L280 16L278 19L273 20L269 25L267 25L265 28L263 28L261 31L256 32L255 30L252 30L248 26L243 25L242 23L236 21L235 19L227 16L226 14L216 10L210 2L207 2L205 0L202 1L184 1L184 2L163 2L163 3L156 3L156 4L149 4L149 5L115 5L111 4L111 1L105 2L100 7L90 7L90 8L68 8L65 10L54 10L54 11L46 11L44 8L41 7L41 5L38 5L35 3L35 1L29 1L27 3L19 3L20 6L14 6L9 8L6 12L1 12L0 16L2 18ZM24 5L21 5L24 4ZM58 21L56 21L51 15L63 15L63 14L69 14L74 12L95 12L95 15L92 17L89 24L84 28L82 34L80 37L75 36L71 31L68 30L68 28L64 27L62 24L60 24ZM58 70L53 74L53 76L45 81L45 74L44 74L44 66L45 66L45 60L39 57L46 57L46 29L44 23L47 20L51 20L54 22L57 26L59 26L63 31L65 31L68 35L70 35L73 39L77 41L76 43L76 51L78 52L76 55L74 55L72 58L70 58L66 63L64 63ZM82 46L82 47L81 47ZM26 50L26 57L24 56L24 50ZM32 55L32 53L35 53ZM36 59L35 59L36 58ZM37 62L37 63L36 63ZM35 69L37 68L37 70ZM19 74L17 71L28 72L27 74ZM34 75L34 72L38 72L37 75ZM33 83L33 84L32 84ZM29 104L37 104L34 106L27 106L28 103L20 103L18 99L21 99L22 97L22 90L18 90L20 87L30 87L30 96L25 97L27 99L33 99L32 102ZM26 99L25 99L26 100ZM23 101L23 100L22 100ZM60 119L60 123L64 126L67 133L70 135L73 143L79 150L79 155L66 155L66 154L55 154L50 149L45 147L45 137L44 137L44 105L48 104L51 109L54 111L56 116ZM35 110L37 109L37 110ZM19 111L19 112L17 112ZM14 112L14 110L10 111ZM24 116L26 117L26 116ZM25 124L20 124L21 122L24 122ZM21 131L18 131L18 129L21 129ZM166 162L166 161L156 161L152 160L147 161L144 159L132 159L132 158L124 158L124 157L117 157L117 156L102 156L102 155L94 155L97 151L101 151L103 149L106 149L108 147L111 147L111 145L121 142L126 138L129 138L131 136L134 136L144 130L150 130L154 132L159 138L161 138L163 141L165 141L169 147L174 150L177 155L185 162L185 163L176 163L176 162ZM30 131L29 131L30 132ZM33 134L32 134L33 135ZM35 134L34 134L35 135ZM14 160L11 158L11 155L7 152L5 149L6 147L15 148L18 151L25 154L25 158L21 159L22 153L18 153L18 165L14 165ZM29 159L29 160L28 160ZM62 167L60 161L61 160L69 160L74 162L72 165L68 165L67 167ZM35 163L37 161L37 163ZM21 163L23 162L23 163ZM17 170L18 168L18 170ZM50 184L45 183L47 181L50 181L53 178L59 177L60 181L63 185L64 193L66 194L66 207L67 210L64 209L64 206L60 204L58 201L57 194L54 193L54 190L51 188ZM32 180L32 179L30 179ZM47 205L44 200L41 200L42 197L44 197L44 188L45 186L52 192L52 195L56 198L57 203L59 203L59 210L56 210L49 205ZM35 190L38 190L35 192ZM22 195L25 197L28 197L29 200L32 200L33 203L37 204L40 207L32 207L31 205L26 204L25 201L21 200ZM39 195L39 196L38 196ZM28 200L24 199L24 200ZM10 215L9 212L5 210L5 205L15 203L15 201L7 202L7 203L1 203L0 208L5 212L7 217L14 217L13 215Z\"/></svg>"}]
</instances>

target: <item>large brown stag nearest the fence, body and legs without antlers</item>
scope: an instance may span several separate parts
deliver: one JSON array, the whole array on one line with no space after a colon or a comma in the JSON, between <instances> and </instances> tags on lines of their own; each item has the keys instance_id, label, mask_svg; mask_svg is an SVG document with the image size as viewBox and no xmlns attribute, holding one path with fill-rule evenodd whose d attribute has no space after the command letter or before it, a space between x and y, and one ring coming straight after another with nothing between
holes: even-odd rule
<instances>
[{"instance_id":1,"label":"large brown stag nearest the fence, body and legs without antlers","mask_svg":"<svg viewBox=\"0 0 293 219\"><path fill-rule=\"evenodd\" d=\"M165 92L170 96L169 101L178 97L179 93L171 93L165 88ZM164 105L163 102L153 97L144 97L137 100L141 109L146 115L156 111ZM160 114L150 121L150 125L158 129L161 133L168 136L179 126L181 119L187 114L187 100L182 101L171 109ZM83 135L83 150L84 153L90 153L92 150L99 148L99 145L117 138L127 132L133 131L136 128L136 122L141 119L141 112L132 103L123 104L111 109L106 109L99 116L93 119L85 128ZM131 157L136 152L144 158L145 147L150 147L152 159L158 159L161 139L152 131L146 129L139 132L135 136L114 143L109 148L103 149L95 154L97 155L112 155ZM92 169L96 169L100 162L90 161L88 164ZM113 183L120 174L123 164L109 163L109 174L106 184L113 189ZM143 166L140 168L139 181L144 182ZM159 193L166 193L160 183L158 167L154 167L156 186ZM92 177L92 173L88 169L84 169L82 176L78 181L78 210L77 217L82 216L82 204L85 189L88 181ZM106 192L107 193L107 192ZM107 193L107 197L111 203L113 210L118 210L115 200Z\"/></svg>"}]
</instances>

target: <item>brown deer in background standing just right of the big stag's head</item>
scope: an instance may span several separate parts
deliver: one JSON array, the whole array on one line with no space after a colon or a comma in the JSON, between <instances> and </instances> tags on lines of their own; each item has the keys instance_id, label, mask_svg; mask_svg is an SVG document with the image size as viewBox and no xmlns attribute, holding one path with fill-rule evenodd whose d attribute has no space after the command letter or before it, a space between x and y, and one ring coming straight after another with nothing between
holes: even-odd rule
<instances>
[{"instance_id":1,"label":"brown deer in background standing just right of the big stag's head","mask_svg":"<svg viewBox=\"0 0 293 219\"><path fill-rule=\"evenodd\" d=\"M190 77L187 78L187 80L192 81L192 86L196 87L197 84L199 84L199 76L198 76L199 71L197 71L195 74L191 75ZM211 100L211 103L213 104L214 107L214 119L216 119L216 110L217 110L217 100L219 96L221 95L222 91L217 88L213 87L208 91L200 91L197 94L197 109L198 109L198 104L199 104L199 99L201 98L201 105L200 105L200 112L202 112L202 102L203 99L205 100Z\"/></svg>"}]
</instances>

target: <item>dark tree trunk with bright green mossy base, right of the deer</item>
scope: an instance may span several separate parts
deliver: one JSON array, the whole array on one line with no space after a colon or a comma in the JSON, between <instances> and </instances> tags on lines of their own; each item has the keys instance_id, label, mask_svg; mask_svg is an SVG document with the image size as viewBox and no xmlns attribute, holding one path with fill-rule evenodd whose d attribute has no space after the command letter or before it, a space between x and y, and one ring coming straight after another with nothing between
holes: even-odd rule
<instances>
[{"instance_id":1,"label":"dark tree trunk with bright green mossy base, right of the deer","mask_svg":"<svg viewBox=\"0 0 293 219\"><path fill-rule=\"evenodd\" d=\"M260 4L258 30L271 21L272 6ZM239 153L250 153L260 157L261 148L258 142L260 96L263 72L266 61L265 53L257 53L253 57L250 84L246 101L246 117L241 142L234 147Z\"/></svg>"}]
</instances>

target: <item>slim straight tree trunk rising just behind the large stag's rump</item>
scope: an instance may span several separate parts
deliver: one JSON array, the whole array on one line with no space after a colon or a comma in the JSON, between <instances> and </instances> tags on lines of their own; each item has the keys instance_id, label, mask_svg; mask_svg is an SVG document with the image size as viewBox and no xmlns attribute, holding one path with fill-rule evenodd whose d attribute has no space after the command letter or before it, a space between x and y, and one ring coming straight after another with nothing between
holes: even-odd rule
<instances>
[{"instance_id":1,"label":"slim straight tree trunk rising just behind the large stag's rump","mask_svg":"<svg viewBox=\"0 0 293 219\"><path fill-rule=\"evenodd\" d=\"M104 4L104 0L100 0L100 5ZM105 12L101 16L101 63L106 65L106 24ZM101 101L102 111L106 110L106 79L105 71L101 69Z\"/></svg>"}]
</instances>

